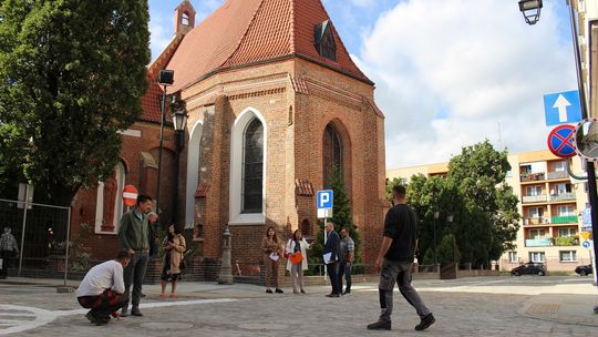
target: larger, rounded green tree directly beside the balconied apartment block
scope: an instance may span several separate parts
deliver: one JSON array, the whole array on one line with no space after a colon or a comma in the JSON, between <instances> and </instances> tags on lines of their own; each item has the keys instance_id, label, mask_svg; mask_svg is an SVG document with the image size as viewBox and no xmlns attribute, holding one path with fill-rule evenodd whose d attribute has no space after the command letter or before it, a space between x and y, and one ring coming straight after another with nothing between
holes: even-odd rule
<instances>
[{"instance_id":1,"label":"larger, rounded green tree directly beside the balconied apartment block","mask_svg":"<svg viewBox=\"0 0 598 337\"><path fill-rule=\"evenodd\" d=\"M496 151L488 140L463 147L448 163L447 181L464 200L465 212L456 217L456 238L464 262L474 266L488 266L516 238L518 200L505 183L508 170L506 150Z\"/></svg>"}]
</instances>

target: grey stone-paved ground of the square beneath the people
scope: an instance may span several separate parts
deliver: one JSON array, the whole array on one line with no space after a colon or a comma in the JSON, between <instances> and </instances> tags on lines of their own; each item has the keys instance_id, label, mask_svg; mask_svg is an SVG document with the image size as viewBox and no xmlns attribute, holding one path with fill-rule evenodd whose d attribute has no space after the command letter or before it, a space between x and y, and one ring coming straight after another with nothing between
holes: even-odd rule
<instances>
[{"instance_id":1,"label":"grey stone-paved ground of the square beneath the people","mask_svg":"<svg viewBox=\"0 0 598 337\"><path fill-rule=\"evenodd\" d=\"M575 279L574 279L575 280ZM525 284L524 284L525 283ZM569 304L587 305L596 300L591 287L570 282L571 289L560 289L565 280L468 279L460 282L419 282L414 285L437 321L426 331L414 331L419 323L413 308L395 293L393 329L369 331L365 326L378 318L375 285L355 286L353 294L327 298L326 287L310 287L308 295L262 293L262 287L212 284L182 284L181 297L157 298L157 287L146 287L144 317L126 317L107 326L92 326L78 307L74 294L56 294L52 287L0 284L0 336L2 319L14 324L16 316L54 315L54 319L10 336L597 336L594 320L570 321L557 318L578 317L567 313ZM543 292L532 295L526 287ZM478 292L475 292L478 289ZM588 295L588 292L594 292ZM513 294L514 293L514 294ZM527 292L529 293L529 292ZM589 298L589 299L588 299ZM225 302L214 302L225 300ZM567 304L569 302L569 304ZM4 305L21 306L7 310ZM556 306L556 307L555 307ZM27 313L23 308L47 310ZM561 313L561 310L565 310ZM50 314L48 314L50 313ZM558 314L558 315L555 315ZM560 315L560 314L563 315ZM536 319L533 318L536 315ZM553 316L550 316L553 315ZM591 314L594 315L594 314ZM588 314L590 319L596 318ZM597 315L598 316L598 315ZM581 316L580 316L581 317ZM45 317L48 319L48 317ZM584 318L584 317L581 317ZM6 323L6 321L4 321ZM598 326L598 319L596 320Z\"/></svg>"}]
</instances>

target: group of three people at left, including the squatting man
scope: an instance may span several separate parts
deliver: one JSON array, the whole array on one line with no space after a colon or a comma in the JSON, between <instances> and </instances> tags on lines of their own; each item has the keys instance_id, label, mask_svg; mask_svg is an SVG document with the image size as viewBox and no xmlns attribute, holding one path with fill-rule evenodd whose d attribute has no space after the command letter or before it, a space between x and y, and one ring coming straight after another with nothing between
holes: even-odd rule
<instances>
[{"instance_id":1,"label":"group of three people at left, including the squatting man","mask_svg":"<svg viewBox=\"0 0 598 337\"><path fill-rule=\"evenodd\" d=\"M140 194L135 207L123 214L118 226L118 239L123 247L113 261L91 268L81 282L76 297L90 312L85 317L95 325L107 324L112 317L143 316L140 300L142 285L151 257L157 255L157 214L152 212L153 200ZM178 227L171 224L162 242L164 249L161 298L166 296L167 283L172 283L169 297L175 297L181 265L186 251L185 238ZM131 304L131 312L128 305ZM120 310L120 312L118 312Z\"/></svg>"}]
</instances>

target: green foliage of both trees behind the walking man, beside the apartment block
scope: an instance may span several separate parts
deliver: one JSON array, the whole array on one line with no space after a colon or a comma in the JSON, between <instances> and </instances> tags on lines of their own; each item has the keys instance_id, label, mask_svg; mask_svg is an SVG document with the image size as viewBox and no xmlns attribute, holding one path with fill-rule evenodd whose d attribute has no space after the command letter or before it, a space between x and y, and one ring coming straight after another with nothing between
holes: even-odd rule
<instances>
[{"instance_id":1,"label":"green foliage of both trees behind the walking man, beside the apartment block","mask_svg":"<svg viewBox=\"0 0 598 337\"><path fill-rule=\"evenodd\" d=\"M518 200L505 183L508 170L507 152L498 152L485 141L463 147L451 159L446 176L414 175L408 202L420 217L417 256L436 247L440 258L440 244L451 234L456 238L460 262L475 267L488 266L512 249L520 216Z\"/></svg>"}]
</instances>

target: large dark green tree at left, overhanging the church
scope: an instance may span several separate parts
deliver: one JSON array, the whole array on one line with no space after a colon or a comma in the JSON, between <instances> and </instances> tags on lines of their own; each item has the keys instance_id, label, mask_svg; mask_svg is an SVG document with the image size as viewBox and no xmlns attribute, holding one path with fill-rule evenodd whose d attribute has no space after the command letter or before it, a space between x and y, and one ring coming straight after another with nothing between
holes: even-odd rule
<instances>
[{"instance_id":1,"label":"large dark green tree at left, overhanging the church","mask_svg":"<svg viewBox=\"0 0 598 337\"><path fill-rule=\"evenodd\" d=\"M70 205L112 174L117 132L142 113L147 1L0 3L0 174L21 172L37 197Z\"/></svg>"}]
</instances>

